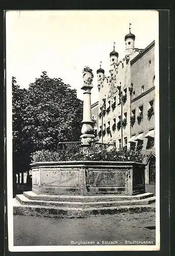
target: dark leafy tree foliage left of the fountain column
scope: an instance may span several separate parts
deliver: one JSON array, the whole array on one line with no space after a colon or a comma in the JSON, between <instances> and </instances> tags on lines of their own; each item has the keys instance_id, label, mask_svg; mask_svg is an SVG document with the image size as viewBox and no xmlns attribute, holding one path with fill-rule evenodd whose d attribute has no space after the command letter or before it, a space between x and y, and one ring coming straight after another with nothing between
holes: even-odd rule
<instances>
[{"instance_id":1,"label":"dark leafy tree foliage left of the fountain column","mask_svg":"<svg viewBox=\"0 0 175 256\"><path fill-rule=\"evenodd\" d=\"M80 140L82 101L61 78L49 78L44 71L26 90L13 77L12 90L16 172L29 168L31 153L55 151L60 141Z\"/></svg>"}]
</instances>

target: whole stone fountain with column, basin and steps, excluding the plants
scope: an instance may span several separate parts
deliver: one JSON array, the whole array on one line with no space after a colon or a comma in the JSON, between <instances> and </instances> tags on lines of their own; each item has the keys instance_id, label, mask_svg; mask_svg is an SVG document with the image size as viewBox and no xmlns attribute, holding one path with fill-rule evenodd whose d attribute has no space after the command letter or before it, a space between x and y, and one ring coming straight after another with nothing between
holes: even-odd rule
<instances>
[{"instance_id":1,"label":"whole stone fountain with column, basin and steps, excluding the plants","mask_svg":"<svg viewBox=\"0 0 175 256\"><path fill-rule=\"evenodd\" d=\"M82 147L93 142L91 89L93 73L83 70ZM155 210L153 193L145 193L143 163L115 161L36 162L32 191L16 195L14 215L87 217L123 211Z\"/></svg>"}]
</instances>

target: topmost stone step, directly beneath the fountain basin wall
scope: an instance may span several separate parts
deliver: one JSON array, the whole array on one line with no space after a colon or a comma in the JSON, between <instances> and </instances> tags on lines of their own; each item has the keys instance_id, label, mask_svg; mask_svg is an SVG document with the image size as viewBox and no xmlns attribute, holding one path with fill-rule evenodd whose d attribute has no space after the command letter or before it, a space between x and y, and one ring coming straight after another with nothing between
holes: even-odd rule
<instances>
[{"instance_id":1,"label":"topmost stone step, directly beneath the fountain basin wall","mask_svg":"<svg viewBox=\"0 0 175 256\"><path fill-rule=\"evenodd\" d=\"M124 200L142 200L151 198L153 193L144 193L135 196L121 196L121 195L98 195L98 196L72 196L72 195L37 195L33 191L26 191L23 193L30 200L43 200L43 201L63 201L63 202L101 202L101 201L124 201Z\"/></svg>"}]
</instances>

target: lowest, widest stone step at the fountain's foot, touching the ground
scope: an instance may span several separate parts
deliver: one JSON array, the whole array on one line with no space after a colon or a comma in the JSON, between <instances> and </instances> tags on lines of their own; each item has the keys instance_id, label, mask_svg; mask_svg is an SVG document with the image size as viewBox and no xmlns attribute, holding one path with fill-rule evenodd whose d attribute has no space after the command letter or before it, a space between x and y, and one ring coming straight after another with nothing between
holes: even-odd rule
<instances>
[{"instance_id":1,"label":"lowest, widest stone step at the fountain's foot, touching the ground","mask_svg":"<svg viewBox=\"0 0 175 256\"><path fill-rule=\"evenodd\" d=\"M155 211L155 205L132 205L117 207L92 207L92 208L66 208L56 206L19 205L16 198L13 199L13 214L20 216L42 216L58 218L86 218L92 215L119 214L120 212L145 212Z\"/></svg>"}]
</instances>

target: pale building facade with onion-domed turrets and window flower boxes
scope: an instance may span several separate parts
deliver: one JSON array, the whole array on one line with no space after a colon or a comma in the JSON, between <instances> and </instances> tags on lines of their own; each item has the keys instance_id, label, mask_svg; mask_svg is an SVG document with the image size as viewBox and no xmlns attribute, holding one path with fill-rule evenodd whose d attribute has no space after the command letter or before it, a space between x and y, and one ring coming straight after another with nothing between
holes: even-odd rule
<instances>
[{"instance_id":1,"label":"pale building facade with onion-domed turrets and window flower boxes","mask_svg":"<svg viewBox=\"0 0 175 256\"><path fill-rule=\"evenodd\" d=\"M145 184L154 184L155 169L155 41L145 49L135 48L135 35L124 37L126 50L119 59L110 53L109 75L97 70L98 102L92 105L97 116L98 141L117 148L141 150L145 155ZM97 114L98 112L98 114Z\"/></svg>"}]
</instances>

